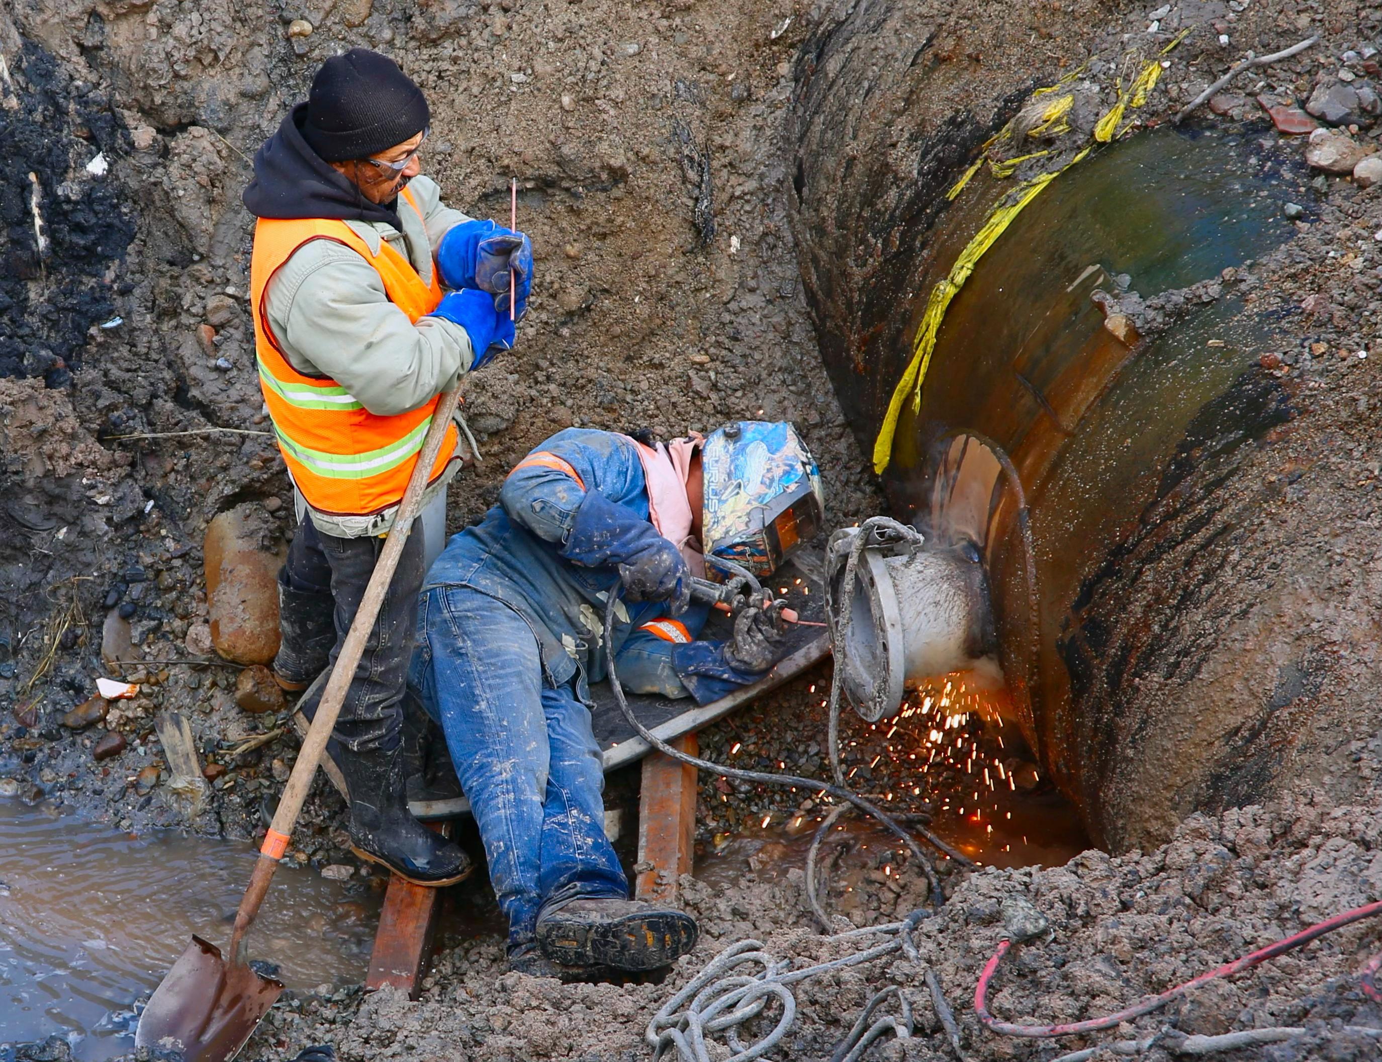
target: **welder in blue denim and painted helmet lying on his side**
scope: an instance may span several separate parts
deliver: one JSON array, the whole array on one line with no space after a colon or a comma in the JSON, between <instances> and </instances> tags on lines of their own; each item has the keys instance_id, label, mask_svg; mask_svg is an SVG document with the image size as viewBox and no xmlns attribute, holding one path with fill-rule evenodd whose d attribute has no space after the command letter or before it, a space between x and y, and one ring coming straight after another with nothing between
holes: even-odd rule
<instances>
[{"instance_id":1,"label":"welder in blue denim and painted helmet lying on his side","mask_svg":"<svg viewBox=\"0 0 1382 1062\"><path fill-rule=\"evenodd\" d=\"M410 683L480 826L510 968L656 969L695 944L690 915L629 899L604 831L587 682L605 676L607 650L636 693L705 704L757 682L782 655L785 603L741 611L730 640L698 640L708 608L690 604L690 577L732 561L767 578L821 513L815 462L788 423L658 447L567 429L446 543L427 574Z\"/></svg>"}]
</instances>

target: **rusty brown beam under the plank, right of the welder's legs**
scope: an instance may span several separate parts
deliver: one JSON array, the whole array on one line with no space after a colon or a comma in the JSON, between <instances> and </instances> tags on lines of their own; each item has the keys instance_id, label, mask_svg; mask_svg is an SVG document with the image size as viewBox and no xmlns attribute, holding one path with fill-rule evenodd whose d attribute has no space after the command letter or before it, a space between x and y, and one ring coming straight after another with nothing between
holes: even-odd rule
<instances>
[{"instance_id":1,"label":"rusty brown beam under the plank, right of the welder's legs","mask_svg":"<svg viewBox=\"0 0 1382 1062\"><path fill-rule=\"evenodd\" d=\"M695 734L668 743L697 755ZM633 895L651 903L677 902L677 878L691 873L695 842L697 769L662 752L643 761L638 794L638 863Z\"/></svg>"}]
</instances>

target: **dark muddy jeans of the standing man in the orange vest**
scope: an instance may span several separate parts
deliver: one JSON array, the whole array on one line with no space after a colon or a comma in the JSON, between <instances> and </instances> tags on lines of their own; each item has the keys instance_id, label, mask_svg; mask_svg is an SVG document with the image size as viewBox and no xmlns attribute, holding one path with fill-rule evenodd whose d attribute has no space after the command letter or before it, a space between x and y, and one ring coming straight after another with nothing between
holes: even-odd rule
<instances>
[{"instance_id":1,"label":"dark muddy jeans of the standing man in the orange vest","mask_svg":"<svg viewBox=\"0 0 1382 1062\"><path fill-rule=\"evenodd\" d=\"M417 593L423 586L424 534L422 520L413 524L404 553L398 559L392 582L384 595L379 617L365 642L365 651L355 667L355 676L346 691L346 702L336 720L336 740L352 752L391 749L402 734L402 700L408 683L408 665L417 629ZM365 586L375 572L375 563L384 550L384 539L336 538L318 531L311 519L297 528L287 550L283 570L289 586L307 593L329 590L336 603L336 646L330 667L336 667L346 633L365 596ZM321 690L304 697L299 705L308 719L316 711Z\"/></svg>"}]
</instances>

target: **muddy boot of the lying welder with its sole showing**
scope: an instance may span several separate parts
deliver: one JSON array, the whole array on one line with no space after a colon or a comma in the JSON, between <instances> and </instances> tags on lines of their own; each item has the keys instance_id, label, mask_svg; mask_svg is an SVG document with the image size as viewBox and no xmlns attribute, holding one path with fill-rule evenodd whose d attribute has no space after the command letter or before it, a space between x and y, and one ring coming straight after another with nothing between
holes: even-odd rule
<instances>
[{"instance_id":1,"label":"muddy boot of the lying welder with its sole showing","mask_svg":"<svg viewBox=\"0 0 1382 1062\"><path fill-rule=\"evenodd\" d=\"M538 947L568 967L661 969L695 947L695 920L643 900L579 897L538 915Z\"/></svg>"}]
</instances>

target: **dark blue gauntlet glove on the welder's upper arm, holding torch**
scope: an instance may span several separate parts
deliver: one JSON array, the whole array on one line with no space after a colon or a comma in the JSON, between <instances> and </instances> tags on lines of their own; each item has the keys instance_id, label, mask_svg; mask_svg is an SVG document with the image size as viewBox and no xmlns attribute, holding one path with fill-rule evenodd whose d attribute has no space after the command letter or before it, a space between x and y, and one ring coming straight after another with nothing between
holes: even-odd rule
<instances>
[{"instance_id":1,"label":"dark blue gauntlet glove on the welder's upper arm, holding torch","mask_svg":"<svg viewBox=\"0 0 1382 1062\"><path fill-rule=\"evenodd\" d=\"M630 602L666 602L669 615L691 604L691 571L670 541L629 506L586 491L561 556L587 568L619 568Z\"/></svg>"}]
</instances>

